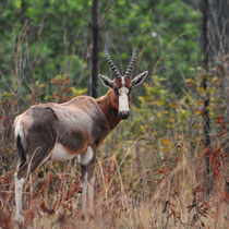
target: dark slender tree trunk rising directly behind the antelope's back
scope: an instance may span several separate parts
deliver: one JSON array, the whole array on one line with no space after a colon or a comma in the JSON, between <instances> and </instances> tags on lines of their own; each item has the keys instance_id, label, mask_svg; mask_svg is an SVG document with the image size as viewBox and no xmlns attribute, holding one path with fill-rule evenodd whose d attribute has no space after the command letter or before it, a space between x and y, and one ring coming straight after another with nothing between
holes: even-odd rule
<instances>
[{"instance_id":1,"label":"dark slender tree trunk rising directly behind the antelope's back","mask_svg":"<svg viewBox=\"0 0 229 229\"><path fill-rule=\"evenodd\" d=\"M97 97L97 79L98 79L98 0L93 0L92 5L92 37L93 37L93 52L92 52L92 68L91 68L91 88L89 95Z\"/></svg>"}]
</instances>

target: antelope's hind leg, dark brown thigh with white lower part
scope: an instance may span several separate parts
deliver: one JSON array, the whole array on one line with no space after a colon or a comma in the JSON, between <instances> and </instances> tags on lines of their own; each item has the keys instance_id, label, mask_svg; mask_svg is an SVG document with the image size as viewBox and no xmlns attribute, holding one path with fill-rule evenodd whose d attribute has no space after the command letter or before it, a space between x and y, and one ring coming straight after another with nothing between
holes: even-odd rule
<instances>
[{"instance_id":1,"label":"antelope's hind leg, dark brown thigh with white lower part","mask_svg":"<svg viewBox=\"0 0 229 229\"><path fill-rule=\"evenodd\" d=\"M19 138L19 136L16 136ZM23 138L23 137L22 137ZM28 176L37 169L49 157L56 143L56 133L52 124L36 122L31 126L26 138L26 144L16 142L16 147L21 158L21 164L15 172L15 219L23 221L22 217L22 192L23 185ZM26 148L23 146L26 145Z\"/></svg>"}]
</instances>

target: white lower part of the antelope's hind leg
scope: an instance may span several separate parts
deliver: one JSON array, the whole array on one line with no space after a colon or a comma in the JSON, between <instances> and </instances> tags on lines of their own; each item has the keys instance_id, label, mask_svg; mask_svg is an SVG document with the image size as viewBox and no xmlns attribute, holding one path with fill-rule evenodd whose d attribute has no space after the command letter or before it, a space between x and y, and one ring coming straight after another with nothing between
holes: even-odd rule
<instances>
[{"instance_id":1,"label":"white lower part of the antelope's hind leg","mask_svg":"<svg viewBox=\"0 0 229 229\"><path fill-rule=\"evenodd\" d=\"M19 180L16 178L16 173L14 174L15 176L15 203L16 203L16 213L15 213L15 219L17 221L23 221L23 218L22 218L22 190L23 190L23 184L25 182L25 179L21 179Z\"/></svg>"}]
</instances>

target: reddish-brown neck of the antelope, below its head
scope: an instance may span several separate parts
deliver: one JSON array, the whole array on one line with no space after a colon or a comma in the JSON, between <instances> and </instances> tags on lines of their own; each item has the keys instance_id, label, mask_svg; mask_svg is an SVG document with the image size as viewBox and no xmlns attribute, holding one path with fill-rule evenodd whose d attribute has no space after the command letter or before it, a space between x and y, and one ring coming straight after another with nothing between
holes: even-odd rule
<instances>
[{"instance_id":1,"label":"reddish-brown neck of the antelope, below its head","mask_svg":"<svg viewBox=\"0 0 229 229\"><path fill-rule=\"evenodd\" d=\"M112 96L114 96L114 92L110 89L105 96L101 96L100 98L96 99L98 106L100 107L100 109L107 118L110 131L112 131L116 128L116 125L119 124L119 122L121 121L121 119L118 116L118 105L113 105L114 101L111 99Z\"/></svg>"}]
</instances>

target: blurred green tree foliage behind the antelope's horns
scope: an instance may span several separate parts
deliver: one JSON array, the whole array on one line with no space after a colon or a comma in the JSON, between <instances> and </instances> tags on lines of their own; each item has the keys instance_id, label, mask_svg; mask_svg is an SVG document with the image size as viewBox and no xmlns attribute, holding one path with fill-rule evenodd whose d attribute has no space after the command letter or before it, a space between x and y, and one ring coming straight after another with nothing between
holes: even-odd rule
<instances>
[{"instance_id":1,"label":"blurred green tree foliage behind the antelope's horns","mask_svg":"<svg viewBox=\"0 0 229 229\"><path fill-rule=\"evenodd\" d=\"M51 94L49 82L59 74L68 74L74 85L88 87L91 4L91 1L75 0L2 2L0 93L10 89L26 100L25 95L35 93L38 81L46 85L43 94ZM133 40L140 52L141 67L137 65L136 71L153 71L153 63L162 58L158 74L166 74L178 93L183 84L180 69L185 75L195 61L195 56L189 53L193 53L195 48L200 13L180 0L168 1L166 5L148 0L141 3L101 1L99 11L99 71L108 70L103 58L105 34L108 33L123 61L122 67L117 60L121 69L126 68L130 58L128 46ZM114 46L110 46L112 53ZM185 61L180 63L181 60Z\"/></svg>"}]
</instances>

